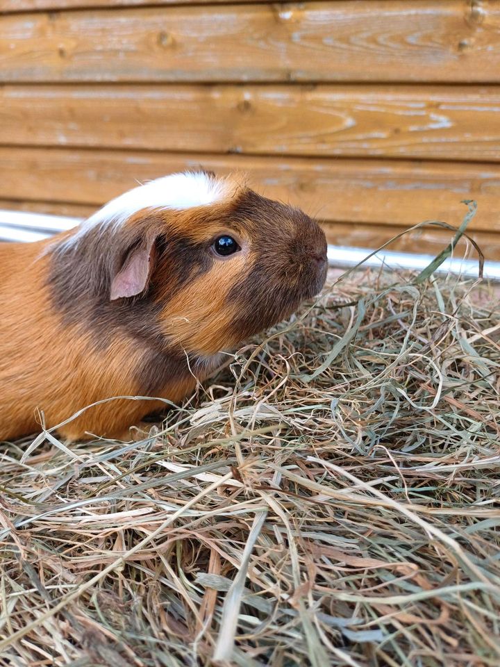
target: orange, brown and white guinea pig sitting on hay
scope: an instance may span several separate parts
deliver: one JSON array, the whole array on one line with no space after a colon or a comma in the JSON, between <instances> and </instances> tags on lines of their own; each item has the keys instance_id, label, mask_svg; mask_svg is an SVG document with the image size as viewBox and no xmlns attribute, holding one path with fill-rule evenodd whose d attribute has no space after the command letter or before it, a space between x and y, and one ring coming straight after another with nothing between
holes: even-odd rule
<instances>
[{"instance_id":1,"label":"orange, brown and white guinea pig sitting on hay","mask_svg":"<svg viewBox=\"0 0 500 667\"><path fill-rule=\"evenodd\" d=\"M316 222L206 172L134 188L55 238L1 243L0 439L109 397L179 402L325 277ZM59 432L121 438L162 405L103 402Z\"/></svg>"}]
</instances>

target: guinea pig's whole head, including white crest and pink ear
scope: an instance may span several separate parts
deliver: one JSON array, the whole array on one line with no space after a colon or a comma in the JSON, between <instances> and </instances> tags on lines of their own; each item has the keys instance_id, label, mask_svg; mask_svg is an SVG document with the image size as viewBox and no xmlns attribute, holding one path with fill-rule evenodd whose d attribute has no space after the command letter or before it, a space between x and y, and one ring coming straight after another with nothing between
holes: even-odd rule
<instances>
[{"instance_id":1,"label":"guinea pig's whole head, including white crest and pink ear","mask_svg":"<svg viewBox=\"0 0 500 667\"><path fill-rule=\"evenodd\" d=\"M136 322L156 345L206 358L288 317L324 284L319 225L238 179L174 174L131 192L133 203L118 197L61 245L74 267L64 289L87 281L94 321L129 332Z\"/></svg>"}]
</instances>

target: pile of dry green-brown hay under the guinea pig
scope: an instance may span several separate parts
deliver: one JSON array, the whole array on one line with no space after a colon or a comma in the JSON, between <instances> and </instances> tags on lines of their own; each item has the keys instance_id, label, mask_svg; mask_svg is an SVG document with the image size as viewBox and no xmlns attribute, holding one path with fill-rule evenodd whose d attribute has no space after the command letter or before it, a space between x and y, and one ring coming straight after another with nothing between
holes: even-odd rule
<instances>
[{"instance_id":1,"label":"pile of dry green-brown hay under the guinea pig","mask_svg":"<svg viewBox=\"0 0 500 667\"><path fill-rule=\"evenodd\" d=\"M149 438L1 445L0 664L499 665L499 334L356 272Z\"/></svg>"}]
</instances>

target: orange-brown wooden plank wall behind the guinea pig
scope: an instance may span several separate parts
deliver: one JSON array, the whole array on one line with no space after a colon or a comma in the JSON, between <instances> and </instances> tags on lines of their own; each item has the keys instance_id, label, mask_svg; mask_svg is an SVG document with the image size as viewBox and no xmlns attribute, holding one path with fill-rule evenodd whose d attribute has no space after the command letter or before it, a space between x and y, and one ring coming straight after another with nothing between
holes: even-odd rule
<instances>
[{"instance_id":1,"label":"orange-brown wooden plank wall behind the guinea pig","mask_svg":"<svg viewBox=\"0 0 500 667\"><path fill-rule=\"evenodd\" d=\"M0 0L0 82L0 208L80 215L238 169L338 245L476 199L500 260L499 0Z\"/></svg>"}]
</instances>

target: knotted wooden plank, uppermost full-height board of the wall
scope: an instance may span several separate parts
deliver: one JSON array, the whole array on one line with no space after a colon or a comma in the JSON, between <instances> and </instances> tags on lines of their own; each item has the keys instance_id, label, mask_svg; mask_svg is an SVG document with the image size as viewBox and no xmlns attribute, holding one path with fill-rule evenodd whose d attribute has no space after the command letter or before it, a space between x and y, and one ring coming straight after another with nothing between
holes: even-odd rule
<instances>
[{"instance_id":1,"label":"knotted wooden plank, uppermost full-height board of the wall","mask_svg":"<svg viewBox=\"0 0 500 667\"><path fill-rule=\"evenodd\" d=\"M500 4L348 0L6 15L0 80L500 81Z\"/></svg>"}]
</instances>

